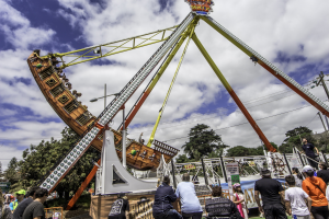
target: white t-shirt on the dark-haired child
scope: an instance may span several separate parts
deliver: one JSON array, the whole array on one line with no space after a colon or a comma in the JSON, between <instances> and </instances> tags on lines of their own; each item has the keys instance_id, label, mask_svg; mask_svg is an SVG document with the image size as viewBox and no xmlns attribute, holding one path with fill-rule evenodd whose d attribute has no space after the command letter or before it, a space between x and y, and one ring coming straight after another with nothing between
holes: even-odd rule
<instances>
[{"instance_id":1,"label":"white t-shirt on the dark-haired child","mask_svg":"<svg viewBox=\"0 0 329 219\"><path fill-rule=\"evenodd\" d=\"M295 216L308 216L308 207L304 199L308 195L299 187L291 187L285 191L285 200L288 200L292 206L292 214Z\"/></svg>"}]
</instances>

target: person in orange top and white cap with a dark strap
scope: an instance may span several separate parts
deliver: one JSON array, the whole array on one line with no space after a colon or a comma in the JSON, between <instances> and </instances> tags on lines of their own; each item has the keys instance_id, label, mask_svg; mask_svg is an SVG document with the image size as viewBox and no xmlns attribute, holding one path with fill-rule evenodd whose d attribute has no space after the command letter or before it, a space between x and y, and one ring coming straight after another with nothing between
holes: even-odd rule
<instances>
[{"instance_id":1,"label":"person in orange top and white cap with a dark strap","mask_svg":"<svg viewBox=\"0 0 329 219\"><path fill-rule=\"evenodd\" d=\"M327 185L320 177L314 176L314 169L310 165L303 168L305 181L303 181L302 188L311 199L310 212L315 219L328 219L328 200L326 197Z\"/></svg>"}]
</instances>

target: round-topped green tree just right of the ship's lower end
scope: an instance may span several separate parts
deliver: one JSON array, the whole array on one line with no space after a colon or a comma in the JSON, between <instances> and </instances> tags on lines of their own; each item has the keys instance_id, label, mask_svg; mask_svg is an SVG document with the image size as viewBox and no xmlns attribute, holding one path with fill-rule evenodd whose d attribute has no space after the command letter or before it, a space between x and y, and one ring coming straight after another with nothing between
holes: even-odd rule
<instances>
[{"instance_id":1,"label":"round-topped green tree just right of the ship's lower end","mask_svg":"<svg viewBox=\"0 0 329 219\"><path fill-rule=\"evenodd\" d=\"M190 159L200 160L226 147L220 136L205 124L197 124L191 128L189 137L189 142L185 142L182 148Z\"/></svg>"}]
</instances>

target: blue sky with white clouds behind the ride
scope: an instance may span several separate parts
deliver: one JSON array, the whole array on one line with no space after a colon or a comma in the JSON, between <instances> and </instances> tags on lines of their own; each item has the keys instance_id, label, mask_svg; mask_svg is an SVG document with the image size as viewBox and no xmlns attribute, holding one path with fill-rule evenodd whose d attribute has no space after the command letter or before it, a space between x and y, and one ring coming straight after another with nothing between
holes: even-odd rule
<instances>
[{"instance_id":1,"label":"blue sky with white clouds behind the ride","mask_svg":"<svg viewBox=\"0 0 329 219\"><path fill-rule=\"evenodd\" d=\"M325 0L250 0L248 3L216 0L211 16L307 87L320 71L329 73L328 7ZM123 39L177 25L189 12L183 0L0 0L0 161L3 168L12 157L20 159L22 150L31 143L50 137L59 139L65 127L27 68L26 58L33 49L41 48L42 54L64 53ZM254 66L203 21L195 32L254 119L308 104L260 66ZM159 46L72 66L65 72L73 89L82 92L82 103L98 116L103 102L90 103L89 100L103 94L104 83L109 94L118 92ZM182 49L133 120L131 138L144 132L148 139L181 54ZM133 95L127 108L150 78ZM326 100L321 87L311 92ZM308 125L314 131L322 131L319 119L314 119L316 113L309 106L257 123L270 141L280 145L286 130L296 126ZM121 119L117 114L113 128ZM218 130L229 146L259 145L250 125L236 126L246 123L246 118L191 42L156 139L169 140L169 145L181 148L188 140L181 137L188 136L197 123ZM180 139L171 140L177 138Z\"/></svg>"}]
</instances>

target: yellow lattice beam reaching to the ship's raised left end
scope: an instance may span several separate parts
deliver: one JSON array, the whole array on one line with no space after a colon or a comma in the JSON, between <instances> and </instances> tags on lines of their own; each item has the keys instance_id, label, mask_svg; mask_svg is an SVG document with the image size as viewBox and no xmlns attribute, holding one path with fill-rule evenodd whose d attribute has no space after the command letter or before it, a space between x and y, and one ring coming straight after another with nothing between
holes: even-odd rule
<instances>
[{"instance_id":1,"label":"yellow lattice beam reaching to the ship's raised left end","mask_svg":"<svg viewBox=\"0 0 329 219\"><path fill-rule=\"evenodd\" d=\"M111 42L111 43L101 44L101 45L97 45L97 46L90 46L87 48L81 48L81 49L61 53L61 54L60 53L52 54L52 55L43 56L41 58L50 58L52 56L58 57L63 61L63 65L60 66L60 68L64 69L66 67L73 66L77 64L82 64L86 61L112 56L115 54L133 50L135 48L140 48L144 46L148 46L148 45L152 45L156 43L167 41L168 37L164 37L164 33L167 31L174 31L177 27L178 26L172 26L169 28L163 28L163 30L159 30L156 32L151 32L151 33L147 33L147 34L116 41L116 42ZM136 39L137 41L139 39L139 42L136 42ZM131 43L132 46L127 45L128 43ZM100 54L94 54L93 51L95 49L99 49ZM75 59L67 60L65 57L73 57Z\"/></svg>"}]
</instances>

